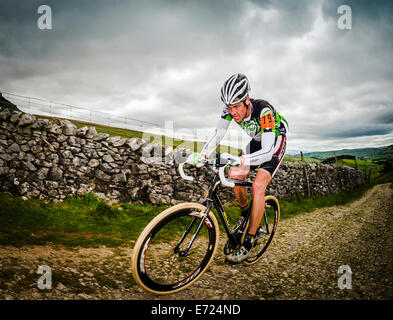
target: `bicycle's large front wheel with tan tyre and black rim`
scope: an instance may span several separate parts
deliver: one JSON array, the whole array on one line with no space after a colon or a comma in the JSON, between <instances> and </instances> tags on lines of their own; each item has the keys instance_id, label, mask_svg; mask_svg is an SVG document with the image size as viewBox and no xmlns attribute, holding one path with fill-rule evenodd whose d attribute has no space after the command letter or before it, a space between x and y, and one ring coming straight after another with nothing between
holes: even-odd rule
<instances>
[{"instance_id":1,"label":"bicycle's large front wheel with tan tyre and black rim","mask_svg":"<svg viewBox=\"0 0 393 320\"><path fill-rule=\"evenodd\" d=\"M205 211L206 207L198 203L178 204L161 212L145 227L135 243L131 258L132 274L138 285L154 294L172 294L200 278L218 248L219 229L214 214L209 212L190 255L180 257L174 248L184 234L182 227L194 220L192 228L196 229L202 219L201 213ZM187 237L190 238L193 233L190 232ZM188 240L184 242L188 243ZM195 263L192 261L194 258ZM165 275L167 279L164 279Z\"/></svg>"}]
</instances>

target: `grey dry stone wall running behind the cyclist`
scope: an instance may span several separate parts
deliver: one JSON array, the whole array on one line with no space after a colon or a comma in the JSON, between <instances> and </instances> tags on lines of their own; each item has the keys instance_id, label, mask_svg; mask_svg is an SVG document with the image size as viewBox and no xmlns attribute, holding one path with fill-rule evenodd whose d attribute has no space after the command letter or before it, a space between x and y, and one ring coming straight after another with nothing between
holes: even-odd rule
<instances>
[{"instance_id":1,"label":"grey dry stone wall running behind the cyclist","mask_svg":"<svg viewBox=\"0 0 393 320\"><path fill-rule=\"evenodd\" d=\"M113 203L200 201L211 170L187 165L186 174L195 181L183 180L177 166L189 153L0 107L0 191L26 198L61 201L94 192ZM335 193L365 182L364 173L350 167L308 163L306 170L311 194ZM280 199L306 195L303 165L282 163L268 193ZM221 188L220 195L224 202L234 199L229 188Z\"/></svg>"}]
</instances>

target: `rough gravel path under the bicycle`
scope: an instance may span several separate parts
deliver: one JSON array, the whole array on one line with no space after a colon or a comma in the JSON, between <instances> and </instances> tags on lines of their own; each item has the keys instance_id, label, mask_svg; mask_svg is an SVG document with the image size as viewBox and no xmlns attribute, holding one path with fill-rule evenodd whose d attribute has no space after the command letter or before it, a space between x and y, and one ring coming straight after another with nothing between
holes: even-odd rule
<instances>
[{"instance_id":1,"label":"rough gravel path under the bicycle","mask_svg":"<svg viewBox=\"0 0 393 320\"><path fill-rule=\"evenodd\" d=\"M129 248L0 246L0 299L393 299L393 190L378 185L349 205L280 221L256 265L226 265L219 250L193 286L156 296L132 279ZM52 289L38 289L40 265ZM342 265L351 289L338 286Z\"/></svg>"}]
</instances>

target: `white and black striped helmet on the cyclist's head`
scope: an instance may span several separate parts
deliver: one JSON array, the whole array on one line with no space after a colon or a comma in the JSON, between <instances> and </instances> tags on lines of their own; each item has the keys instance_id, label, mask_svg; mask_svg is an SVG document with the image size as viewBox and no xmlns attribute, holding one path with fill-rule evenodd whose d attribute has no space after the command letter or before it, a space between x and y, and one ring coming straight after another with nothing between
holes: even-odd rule
<instances>
[{"instance_id":1,"label":"white and black striped helmet on the cyclist's head","mask_svg":"<svg viewBox=\"0 0 393 320\"><path fill-rule=\"evenodd\" d=\"M221 100L226 105L244 101L250 89L247 77L244 74L236 73L222 85Z\"/></svg>"}]
</instances>

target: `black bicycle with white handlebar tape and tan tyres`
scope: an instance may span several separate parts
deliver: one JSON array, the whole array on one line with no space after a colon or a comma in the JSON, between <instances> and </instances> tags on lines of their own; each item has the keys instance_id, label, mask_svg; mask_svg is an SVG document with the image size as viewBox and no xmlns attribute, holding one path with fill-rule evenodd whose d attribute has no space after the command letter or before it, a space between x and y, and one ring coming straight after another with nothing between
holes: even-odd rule
<instances>
[{"instance_id":1,"label":"black bicycle with white handlebar tape and tan tyres","mask_svg":"<svg viewBox=\"0 0 393 320\"><path fill-rule=\"evenodd\" d=\"M231 160L222 158L219 153L213 161L205 160L206 163L212 164L213 178L204 203L181 203L164 210L145 227L134 245L132 274L137 284L148 292L178 292L195 283L208 269L219 243L218 222L211 211L213 206L228 237L224 254L237 250L244 240L252 200L244 221L230 228L217 191L220 183L226 187L251 187L252 182L227 179L224 170L231 165ZM181 177L192 181L193 177L184 173L183 166L184 163L179 164ZM252 265L261 259L274 237L279 217L278 200L274 196L266 196L263 218L251 254L243 261L244 264Z\"/></svg>"}]
</instances>

